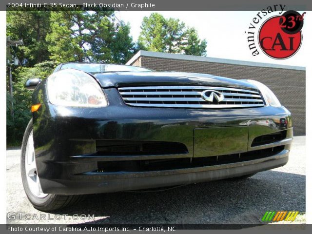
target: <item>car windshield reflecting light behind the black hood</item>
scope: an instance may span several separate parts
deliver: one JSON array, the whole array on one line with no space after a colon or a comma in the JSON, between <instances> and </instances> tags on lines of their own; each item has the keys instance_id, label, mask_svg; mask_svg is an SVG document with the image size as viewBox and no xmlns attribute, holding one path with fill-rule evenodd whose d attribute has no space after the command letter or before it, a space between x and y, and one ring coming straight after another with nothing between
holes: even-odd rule
<instances>
[{"instance_id":1,"label":"car windshield reflecting light behind the black hood","mask_svg":"<svg viewBox=\"0 0 312 234\"><path fill-rule=\"evenodd\" d=\"M144 71L151 72L151 70L135 67L135 66L127 66L127 65L118 65L118 64L104 64L104 63L65 63L62 64L60 70L66 68L74 68L84 72L129 72L129 71Z\"/></svg>"}]
</instances>

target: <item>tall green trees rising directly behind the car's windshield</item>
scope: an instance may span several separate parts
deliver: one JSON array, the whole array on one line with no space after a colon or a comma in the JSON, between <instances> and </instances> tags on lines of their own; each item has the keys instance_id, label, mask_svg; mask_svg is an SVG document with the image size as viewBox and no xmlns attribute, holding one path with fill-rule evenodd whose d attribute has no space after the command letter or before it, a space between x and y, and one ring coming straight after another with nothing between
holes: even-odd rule
<instances>
[{"instance_id":1,"label":"tall green trees rising directly behind the car's windshield","mask_svg":"<svg viewBox=\"0 0 312 234\"><path fill-rule=\"evenodd\" d=\"M51 13L46 37L51 59L125 63L134 43L129 24L115 23L114 11L57 11Z\"/></svg>"}]
</instances>

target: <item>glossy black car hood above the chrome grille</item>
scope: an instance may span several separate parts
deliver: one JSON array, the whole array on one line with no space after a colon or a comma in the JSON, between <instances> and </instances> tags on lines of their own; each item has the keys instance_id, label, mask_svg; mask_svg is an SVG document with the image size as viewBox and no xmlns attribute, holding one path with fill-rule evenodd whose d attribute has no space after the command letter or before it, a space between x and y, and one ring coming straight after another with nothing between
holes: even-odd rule
<instances>
[{"instance_id":1,"label":"glossy black car hood above the chrome grille","mask_svg":"<svg viewBox=\"0 0 312 234\"><path fill-rule=\"evenodd\" d=\"M153 85L202 85L257 89L243 80L184 72L105 72L92 73L103 88Z\"/></svg>"}]
</instances>

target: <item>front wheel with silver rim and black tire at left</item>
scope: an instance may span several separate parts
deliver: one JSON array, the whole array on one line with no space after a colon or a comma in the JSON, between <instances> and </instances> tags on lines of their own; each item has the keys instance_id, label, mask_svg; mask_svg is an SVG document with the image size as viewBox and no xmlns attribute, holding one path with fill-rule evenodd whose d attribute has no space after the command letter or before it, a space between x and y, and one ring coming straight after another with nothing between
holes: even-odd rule
<instances>
[{"instance_id":1,"label":"front wheel with silver rim and black tire at left","mask_svg":"<svg viewBox=\"0 0 312 234\"><path fill-rule=\"evenodd\" d=\"M31 204L40 211L55 211L81 201L82 195L56 195L42 192L33 149L33 121L31 119L25 130L20 157L22 183Z\"/></svg>"}]
</instances>

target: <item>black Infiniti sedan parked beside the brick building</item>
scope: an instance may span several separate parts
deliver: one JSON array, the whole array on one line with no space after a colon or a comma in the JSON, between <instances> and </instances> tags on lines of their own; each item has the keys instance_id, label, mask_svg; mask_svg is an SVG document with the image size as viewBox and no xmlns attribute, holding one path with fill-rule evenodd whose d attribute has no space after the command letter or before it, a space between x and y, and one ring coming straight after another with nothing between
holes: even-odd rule
<instances>
[{"instance_id":1,"label":"black Infiniti sedan parked beside the brick building","mask_svg":"<svg viewBox=\"0 0 312 234\"><path fill-rule=\"evenodd\" d=\"M254 80L63 63L35 89L21 153L42 211L79 195L174 186L283 166L291 113Z\"/></svg>"}]
</instances>

